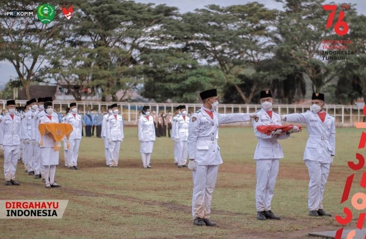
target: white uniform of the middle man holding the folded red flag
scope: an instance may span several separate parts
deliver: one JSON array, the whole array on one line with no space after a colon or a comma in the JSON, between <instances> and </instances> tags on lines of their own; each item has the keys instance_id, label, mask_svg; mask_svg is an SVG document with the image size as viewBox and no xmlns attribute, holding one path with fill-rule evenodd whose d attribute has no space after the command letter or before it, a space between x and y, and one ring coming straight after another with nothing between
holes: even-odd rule
<instances>
[{"instance_id":1,"label":"white uniform of the middle man holding the folded red flag","mask_svg":"<svg viewBox=\"0 0 366 239\"><path fill-rule=\"evenodd\" d=\"M271 210L273 190L276 184L280 160L284 157L278 139L286 139L289 134L267 135L258 131L257 126L278 125L281 126L281 117L272 111L272 118L264 110L257 110L258 118L253 119L254 134L258 138L258 144L254 152L256 161L257 185L255 201L257 212Z\"/></svg>"}]
</instances>

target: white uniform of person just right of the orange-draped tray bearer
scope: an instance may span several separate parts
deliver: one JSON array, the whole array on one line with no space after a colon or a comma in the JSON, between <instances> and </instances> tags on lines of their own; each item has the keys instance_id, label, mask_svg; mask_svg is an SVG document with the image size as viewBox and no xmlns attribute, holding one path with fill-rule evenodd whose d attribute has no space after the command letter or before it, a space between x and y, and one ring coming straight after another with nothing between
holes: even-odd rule
<instances>
[{"instance_id":1,"label":"white uniform of person just right of the orange-draped tray bearer","mask_svg":"<svg viewBox=\"0 0 366 239\"><path fill-rule=\"evenodd\" d=\"M67 150L68 166L73 167L78 165L79 147L81 141L82 118L80 114L69 113L66 116L66 123L71 124L73 131L69 137L70 147Z\"/></svg>"}]
</instances>

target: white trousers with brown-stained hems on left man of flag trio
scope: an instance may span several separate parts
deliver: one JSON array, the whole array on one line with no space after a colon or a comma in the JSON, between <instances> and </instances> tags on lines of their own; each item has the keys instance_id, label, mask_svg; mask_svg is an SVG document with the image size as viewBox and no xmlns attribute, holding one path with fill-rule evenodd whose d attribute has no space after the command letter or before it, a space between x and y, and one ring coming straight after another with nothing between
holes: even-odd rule
<instances>
[{"instance_id":1,"label":"white trousers with brown-stained hems on left man of flag trio","mask_svg":"<svg viewBox=\"0 0 366 239\"><path fill-rule=\"evenodd\" d=\"M212 193L215 189L219 165L197 165L192 172L192 217L210 218Z\"/></svg>"}]
</instances>

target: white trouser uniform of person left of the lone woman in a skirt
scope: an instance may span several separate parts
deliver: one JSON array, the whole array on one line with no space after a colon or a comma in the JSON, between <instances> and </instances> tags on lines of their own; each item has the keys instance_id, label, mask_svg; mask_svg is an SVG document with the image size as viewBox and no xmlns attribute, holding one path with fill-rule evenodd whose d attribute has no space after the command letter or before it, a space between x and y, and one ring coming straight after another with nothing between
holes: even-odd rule
<instances>
[{"instance_id":1,"label":"white trouser uniform of person left of the lone woman in a skirt","mask_svg":"<svg viewBox=\"0 0 366 239\"><path fill-rule=\"evenodd\" d=\"M106 120L105 127L106 139L108 143L108 152L110 161L109 166L117 166L120 156L120 147L123 140L123 120L121 115L110 115Z\"/></svg>"}]
</instances>

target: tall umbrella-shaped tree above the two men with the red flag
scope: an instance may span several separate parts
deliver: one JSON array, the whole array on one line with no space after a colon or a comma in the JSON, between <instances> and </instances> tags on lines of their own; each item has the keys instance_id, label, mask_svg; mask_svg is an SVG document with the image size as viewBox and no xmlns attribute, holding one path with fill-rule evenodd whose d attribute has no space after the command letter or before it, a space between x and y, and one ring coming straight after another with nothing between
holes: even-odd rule
<instances>
[{"instance_id":1,"label":"tall umbrella-shaped tree above the two men with the red flag","mask_svg":"<svg viewBox=\"0 0 366 239\"><path fill-rule=\"evenodd\" d=\"M183 15L188 25L187 47L194 57L216 66L242 102L249 103L265 79L256 77L252 84L246 84L240 75L257 69L268 57L272 47L270 26L275 17L275 10L258 2L228 7L208 5Z\"/></svg>"}]
</instances>

